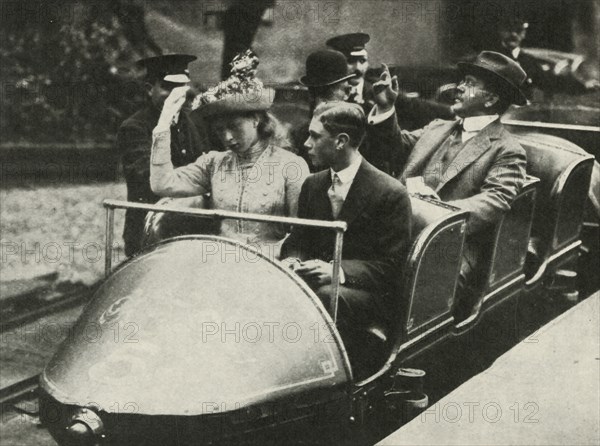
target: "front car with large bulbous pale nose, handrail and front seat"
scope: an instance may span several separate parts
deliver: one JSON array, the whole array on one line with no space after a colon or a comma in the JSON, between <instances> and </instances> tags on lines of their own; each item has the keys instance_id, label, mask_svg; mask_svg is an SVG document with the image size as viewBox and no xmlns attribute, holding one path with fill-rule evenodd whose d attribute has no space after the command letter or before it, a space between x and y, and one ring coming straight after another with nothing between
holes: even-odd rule
<instances>
[{"instance_id":1,"label":"front car with large bulbous pale nose, handrail and front seat","mask_svg":"<svg viewBox=\"0 0 600 446\"><path fill-rule=\"evenodd\" d=\"M107 275L41 375L42 422L64 445L278 443L280 435L289 441L316 432L308 441L327 442L329 432L331 442L353 435L378 410L400 416L407 404L426 404L414 391L422 374L400 366L450 333L467 213L416 197L412 204L416 237L398 296L402 311L393 332L366 330L387 352L368 377L353 373L335 317L289 269L229 239L180 236ZM345 227L105 206L108 251L115 208L275 218L338 234Z\"/></svg>"}]
</instances>

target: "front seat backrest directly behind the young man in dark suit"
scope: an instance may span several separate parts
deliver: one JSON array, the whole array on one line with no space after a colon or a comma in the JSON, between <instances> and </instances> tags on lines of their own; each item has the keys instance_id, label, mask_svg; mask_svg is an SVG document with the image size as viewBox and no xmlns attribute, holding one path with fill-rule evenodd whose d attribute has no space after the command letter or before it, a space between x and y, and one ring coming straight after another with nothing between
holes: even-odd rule
<instances>
[{"instance_id":1,"label":"front seat backrest directly behind the young man in dark suit","mask_svg":"<svg viewBox=\"0 0 600 446\"><path fill-rule=\"evenodd\" d=\"M401 342L452 321L468 212L411 196L414 240L404 271Z\"/></svg>"}]
</instances>

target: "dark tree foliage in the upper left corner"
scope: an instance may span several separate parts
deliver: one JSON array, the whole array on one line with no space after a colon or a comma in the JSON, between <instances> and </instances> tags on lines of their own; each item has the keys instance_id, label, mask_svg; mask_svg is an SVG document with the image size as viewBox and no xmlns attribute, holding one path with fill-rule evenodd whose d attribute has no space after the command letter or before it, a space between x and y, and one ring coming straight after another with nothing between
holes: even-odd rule
<instances>
[{"instance_id":1,"label":"dark tree foliage in the upper left corner","mask_svg":"<svg viewBox=\"0 0 600 446\"><path fill-rule=\"evenodd\" d=\"M130 41L121 3L61 3L46 13L41 3L3 4L3 143L114 139L143 101L133 62L147 55Z\"/></svg>"}]
</instances>

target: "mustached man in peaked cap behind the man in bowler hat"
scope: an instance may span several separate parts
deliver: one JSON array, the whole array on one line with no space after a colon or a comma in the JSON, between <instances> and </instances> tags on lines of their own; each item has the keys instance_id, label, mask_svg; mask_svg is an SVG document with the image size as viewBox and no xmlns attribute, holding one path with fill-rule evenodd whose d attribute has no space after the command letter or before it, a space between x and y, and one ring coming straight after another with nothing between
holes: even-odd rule
<instances>
[{"instance_id":1,"label":"mustached man in peaked cap behind the man in bowler hat","mask_svg":"<svg viewBox=\"0 0 600 446\"><path fill-rule=\"evenodd\" d=\"M366 33L351 33L332 37L325 42L346 57L348 72L355 74L348 82L351 89L346 100L360 104L365 113L369 113L374 105L373 85L365 79L369 69L369 53L366 49L369 40L371 37Z\"/></svg>"}]
</instances>

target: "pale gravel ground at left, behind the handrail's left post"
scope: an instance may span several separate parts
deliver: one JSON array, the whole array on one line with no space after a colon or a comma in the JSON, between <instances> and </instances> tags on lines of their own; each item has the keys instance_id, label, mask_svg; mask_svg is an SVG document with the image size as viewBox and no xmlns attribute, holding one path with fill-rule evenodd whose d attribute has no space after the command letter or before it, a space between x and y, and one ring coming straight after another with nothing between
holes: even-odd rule
<instances>
[{"instance_id":1,"label":"pale gravel ground at left, behind the handrail's left post","mask_svg":"<svg viewBox=\"0 0 600 446\"><path fill-rule=\"evenodd\" d=\"M91 284L104 272L105 198L125 199L124 183L0 190L0 281L58 272L59 282ZM123 211L115 214L113 264L124 260Z\"/></svg>"}]
</instances>

